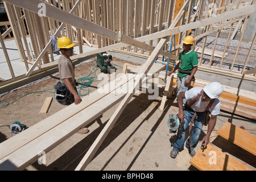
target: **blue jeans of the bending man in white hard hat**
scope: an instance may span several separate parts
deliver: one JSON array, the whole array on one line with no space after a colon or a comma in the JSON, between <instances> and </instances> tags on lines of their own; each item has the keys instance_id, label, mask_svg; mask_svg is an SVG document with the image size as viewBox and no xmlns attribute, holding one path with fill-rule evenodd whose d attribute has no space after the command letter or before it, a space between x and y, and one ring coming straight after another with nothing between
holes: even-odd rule
<instances>
[{"instance_id":1,"label":"blue jeans of the bending man in white hard hat","mask_svg":"<svg viewBox=\"0 0 256 182\"><path fill-rule=\"evenodd\" d=\"M187 131L187 128L189 126L189 123L191 121L191 118L193 117L194 111L191 110L184 110L184 119L183 119L183 129L181 130L182 132L177 132L177 139L176 142L174 143L174 150L175 151L179 151L180 148L182 148L184 146L185 143L185 133ZM206 113L197 113L196 114L196 118L194 121L194 129L191 133L191 138L189 138L187 140L187 142L185 143L185 146L187 148L191 148L193 149L196 146L196 143L199 139L199 135L201 133L201 129L204 126L204 122L205 122L205 117L206 117ZM192 139L192 147L189 147L189 140Z\"/></svg>"}]
</instances>

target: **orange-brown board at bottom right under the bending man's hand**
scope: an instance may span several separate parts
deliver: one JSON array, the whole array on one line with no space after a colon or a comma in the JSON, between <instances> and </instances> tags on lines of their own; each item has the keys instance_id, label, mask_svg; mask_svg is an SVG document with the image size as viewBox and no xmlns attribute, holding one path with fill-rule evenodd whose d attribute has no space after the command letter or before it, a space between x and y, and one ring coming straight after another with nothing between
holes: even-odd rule
<instances>
[{"instance_id":1,"label":"orange-brown board at bottom right under the bending man's hand","mask_svg":"<svg viewBox=\"0 0 256 182\"><path fill-rule=\"evenodd\" d=\"M253 171L211 144L197 151L189 163L200 171Z\"/></svg>"}]
</instances>

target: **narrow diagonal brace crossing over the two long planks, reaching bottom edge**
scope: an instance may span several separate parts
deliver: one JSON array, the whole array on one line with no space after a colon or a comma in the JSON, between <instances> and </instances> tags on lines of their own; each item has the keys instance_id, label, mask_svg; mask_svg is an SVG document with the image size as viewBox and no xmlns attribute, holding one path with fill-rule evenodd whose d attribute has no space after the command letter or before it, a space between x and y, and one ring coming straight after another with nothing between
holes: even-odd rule
<instances>
[{"instance_id":1,"label":"narrow diagonal brace crossing over the two long planks, reaching bottom edge","mask_svg":"<svg viewBox=\"0 0 256 182\"><path fill-rule=\"evenodd\" d=\"M183 8L185 8L188 4L189 0L184 3ZM181 9L183 9L181 8ZM172 28L173 24L169 27ZM131 88L129 93L126 94L125 98L123 98L121 104L117 107L112 117L109 119L108 123L104 127L104 129L101 131L100 135L96 138L92 146L89 148L88 152L86 152L84 158L82 158L79 165L76 167L76 170L84 170L85 167L89 164L90 160L92 160L95 152L100 147L101 143L104 141L106 136L109 134L109 131L114 126L115 122L121 115L122 111L125 109L126 105L130 101L131 97L133 97L133 94L135 93L135 90L138 88L138 85L140 84L142 77L144 74L147 74L149 69L154 64L154 61L156 60L156 57L159 55L159 51L163 49L164 45L167 43L168 39L170 39L170 36L167 36L159 41L157 46L155 47L154 51L151 53L150 57L148 57L146 63L142 65L142 69L135 78L135 86L134 88Z\"/></svg>"}]
</instances>

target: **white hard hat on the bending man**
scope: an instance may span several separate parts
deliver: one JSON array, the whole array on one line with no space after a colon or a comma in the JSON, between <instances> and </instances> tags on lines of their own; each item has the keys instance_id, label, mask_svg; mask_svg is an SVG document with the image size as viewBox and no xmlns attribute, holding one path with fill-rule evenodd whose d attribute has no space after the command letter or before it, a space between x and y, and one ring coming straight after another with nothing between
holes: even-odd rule
<instances>
[{"instance_id":1,"label":"white hard hat on the bending man","mask_svg":"<svg viewBox=\"0 0 256 182\"><path fill-rule=\"evenodd\" d=\"M204 87L204 92L210 98L218 98L223 92L223 86L219 82L211 82Z\"/></svg>"}]
</instances>

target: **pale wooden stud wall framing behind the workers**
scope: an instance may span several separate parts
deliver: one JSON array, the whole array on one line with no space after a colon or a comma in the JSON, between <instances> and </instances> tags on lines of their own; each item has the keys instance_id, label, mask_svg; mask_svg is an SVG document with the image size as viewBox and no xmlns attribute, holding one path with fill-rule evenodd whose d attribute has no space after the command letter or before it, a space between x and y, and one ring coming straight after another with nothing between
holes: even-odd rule
<instances>
[{"instance_id":1,"label":"pale wooden stud wall framing behind the workers","mask_svg":"<svg viewBox=\"0 0 256 182\"><path fill-rule=\"evenodd\" d=\"M57 3L56 3L57 1L52 1L52 2L49 2L46 0L41 0L41 1L30 0L30 1L24 1L24 2L11 1L11 0L4 1L7 3L6 4L7 10L10 9L9 15L11 20L9 21L9 23L13 23L13 26L16 26L19 32L22 32L22 34L18 34L18 32L16 32L15 34L16 35L15 40L19 47L21 60L24 61L27 69L28 69L27 63L32 64L32 67L30 67L26 76L30 76L31 73L34 71L35 67L39 67L39 69L41 69L41 68L47 68L48 66L51 66L53 64L55 65L57 64L57 61L53 60L53 52L51 50L51 40L49 39L49 37L51 37L52 35L58 35L57 33L59 33L59 35L56 38L60 36L71 36L71 39L73 40L73 42L79 45L80 53L82 53L81 46L84 43L88 44L89 46L98 47L98 48L108 47L108 46L117 44L118 35L121 35L119 36L119 39L122 39L122 40L119 40L119 41L123 42L124 44L119 44L119 46L122 46L122 47L117 47L118 49L126 50L128 52L132 51L136 53L141 53L143 54L143 56L148 56L150 55L150 52L152 52L152 49L154 49L154 47L152 47L151 44L146 45L147 44L146 42L148 40L151 42L154 39L158 39L159 41L159 39L162 38L163 36L167 36L170 34L181 35L181 32L183 33L187 32L192 28L196 28L196 30L198 30L200 26L201 27L205 26L204 21L210 22L210 25L208 26L209 28L214 27L212 29L209 29L209 31L214 30L216 27L216 24L219 27L222 26L222 28L228 27L231 24L231 22L229 24L229 20L231 19L228 18L228 15L231 15L234 18L236 17L240 22L242 19L246 17L245 21L241 22L241 24L243 25L242 30L245 30L247 19L251 14L250 11L255 12L255 7L251 6L251 4L254 3L254 1L251 1L251 0L250 1L246 0L243 2L240 2L240 1L232 2L230 5L228 1L225 1L225 2L222 1L221 3L217 3L216 4L217 6L213 8L200 6L199 3L203 3L203 1L196 0L196 1L193 1L194 3L193 6L196 5L201 8L199 11L196 12L195 16L193 16L192 19L188 21L189 15L187 15L186 24L183 24L183 26L177 26L177 27L175 26L174 29L170 30L171 32L168 32L164 30L162 31L162 28L160 27L163 27L163 26L168 27L168 25L170 25L170 22L174 22L174 18L176 16L172 18L172 16L170 15L173 13L173 10L175 7L174 5L175 1L168 1L168 3L165 1L153 1L153 0L148 0L147 2L149 3L146 3L144 1L140 3L140 2L136 2L136 0L129 1L129 2L111 1L109 3L105 3L105 1L98 1L98 0L92 0L92 2L89 2L89 0L79 0L79 1L68 0L68 1L70 1L69 3L71 7L67 6L68 2L66 3L66 1L64 1L64 3L59 3L61 6L63 6L63 10L61 10L61 6L57 7ZM40 3L43 3L46 6L47 10L49 10L49 11L46 11L46 16L42 16L42 17L38 16L39 12L42 13L41 11L42 9L38 7ZM100 6L96 6L96 5L100 5L103 8L99 9L98 7ZM150 7L148 5L150 5ZM187 14L189 14L189 11L191 11L192 3L189 3L188 5L189 6L187 7L189 7L189 9L185 10L187 11L185 12ZM30 9L34 13L32 13L31 11L27 11L27 9L24 9L24 15L20 17L20 14L19 14L20 11L17 8L17 6L21 6L21 7L26 6L27 9ZM77 6L79 7L79 9L74 11ZM131 9L127 9L127 8L125 9L125 7L127 6L131 7ZM114 7L114 9L112 7ZM132 7L134 7L134 11L132 10ZM125 11L119 11L119 9L125 9ZM15 10L16 13L13 14L14 12L13 10ZM89 14L88 12L92 12L92 14ZM165 12L168 12L168 13L165 13ZM213 14L213 12L217 13L217 16L216 14ZM242 17L241 16L242 13L244 13L246 16ZM179 11L179 13L176 12L176 14L180 15L181 11ZM101 19L99 19L100 15L101 15ZM77 24L80 24L80 25L83 24L82 20L86 22L83 27L76 26L77 25L76 22L71 22L71 19L75 18L75 16L76 18L77 16L81 18L81 19L77 19ZM92 16L95 16L96 18L93 19ZM125 17L133 17L133 16L137 17L138 20L135 19L135 21L133 21L134 18L130 18L131 21L129 21L129 23L127 21L123 22L126 19ZM193 22L196 16L198 20L196 21L197 23ZM68 18L65 18L65 17L68 17ZM150 17L154 17L154 18L150 20ZM112 20L112 18L116 19L116 21ZM179 21L183 18L184 18L183 16L180 16L177 23L179 23ZM18 24L17 23L15 24L14 22L12 22L12 20L15 20L15 19L16 19L16 22L18 22ZM67 19L67 20L64 20L64 19ZM28 35L31 37L31 44L32 44L32 48L34 49L33 50L34 55L33 54L29 55L31 51L28 50L26 39L24 39L24 35L27 36L27 34L26 32L23 31L24 23L22 21L26 21L27 23L27 30L29 32ZM142 23L141 27L138 26L139 22ZM34 26L35 23L38 23L39 26ZM43 26L41 26L40 24L43 24ZM70 26L70 24L72 26ZM154 28L157 28L156 34L153 33L154 31L152 31ZM183 28L185 29L183 30ZM10 27L9 30L2 35L3 38L12 30L15 31L14 28ZM151 38L150 36L147 36L147 37L144 37L144 39L137 39L137 38L142 38L146 34L147 30L149 30ZM205 32L204 36L208 35L209 31ZM219 34L221 31L221 28L215 29L214 31L218 31L218 34ZM167 34L164 34L164 32L166 32ZM233 31L233 32L230 31L230 36L232 33L234 34L234 32L237 32L237 31ZM243 32L244 31L242 31L242 33ZM97 36L93 36L93 34L96 34ZM23 48L22 44L19 44L20 36L22 36L22 38L25 40L25 44L24 44L25 48ZM195 36L202 36L202 35L196 34ZM45 37L46 40L43 40L43 37ZM130 38L134 38L135 40L138 40L138 42ZM147 38L150 38L150 39L147 39ZM36 44L36 42L39 42L40 44ZM130 46L127 46L127 44L129 44ZM28 55L24 53L23 50L25 49L26 49L25 52ZM109 50L110 49L112 48L109 47ZM161 50L160 52L161 55L165 57L170 57L171 63L172 63L172 60L174 59L177 60L177 57L175 57L175 55L168 53L167 44L165 46L165 49L166 49L165 51ZM205 52L204 48L202 52L203 53ZM214 51L211 52L212 57L214 57L213 53ZM47 55L51 56L51 61L49 61ZM81 57L81 56L83 55L77 55L75 57ZM35 61L32 60L34 59L34 57L35 57ZM203 56L201 56L201 58L202 57ZM219 67L220 70L222 70L222 65L223 65L222 63L225 61L224 59L225 53L223 54L222 58L223 59L221 60L221 64ZM6 56L6 59L8 59L7 56ZM236 63L235 59L234 59L234 63ZM200 64L201 64L201 61L200 61ZM243 69L246 68L246 64L247 63L243 65ZM236 71L233 71L233 65L232 65L232 69L230 69L230 72L236 73ZM212 68L212 65L209 64L208 67ZM11 68L10 68L10 72L12 72ZM14 78L14 74L11 73L11 75ZM242 76L242 74L240 76ZM251 76L246 75L245 78L247 77L251 77Z\"/></svg>"}]
</instances>

